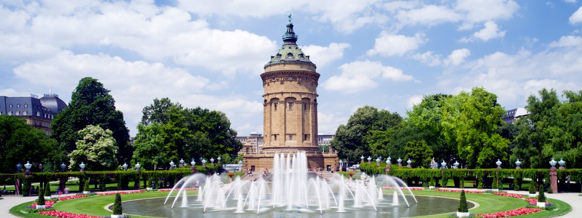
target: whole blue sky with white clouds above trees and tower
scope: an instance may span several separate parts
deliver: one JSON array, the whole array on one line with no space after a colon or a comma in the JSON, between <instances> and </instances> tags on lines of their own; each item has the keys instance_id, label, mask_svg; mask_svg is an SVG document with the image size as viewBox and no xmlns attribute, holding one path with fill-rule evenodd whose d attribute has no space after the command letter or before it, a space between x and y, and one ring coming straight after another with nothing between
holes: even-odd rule
<instances>
[{"instance_id":1,"label":"whole blue sky with white clouds above trees and tower","mask_svg":"<svg viewBox=\"0 0 582 218\"><path fill-rule=\"evenodd\" d=\"M427 94L484 87L506 109L541 88L579 91L582 2L0 2L0 95L70 101L80 78L111 90L136 134L154 98L221 110L262 133L262 68L293 13L318 66L320 133L360 106L398 112Z\"/></svg>"}]
</instances>

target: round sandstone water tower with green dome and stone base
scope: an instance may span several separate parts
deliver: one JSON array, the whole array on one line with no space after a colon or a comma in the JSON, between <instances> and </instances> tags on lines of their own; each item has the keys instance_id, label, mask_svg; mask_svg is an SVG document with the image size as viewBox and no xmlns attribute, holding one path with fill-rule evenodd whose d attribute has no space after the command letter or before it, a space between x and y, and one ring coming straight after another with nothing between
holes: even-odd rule
<instances>
[{"instance_id":1,"label":"round sandstone water tower with green dome and stone base","mask_svg":"<svg viewBox=\"0 0 582 218\"><path fill-rule=\"evenodd\" d=\"M261 74L264 88L264 137L261 149L245 153L243 167L272 168L276 153L306 152L308 167L335 167L337 153L319 152L317 138L317 67L296 44L291 15L283 45ZM250 140L250 138L249 138ZM248 142L251 145L251 142ZM243 148L246 151L246 148ZM256 152L256 153L253 153Z\"/></svg>"}]
</instances>

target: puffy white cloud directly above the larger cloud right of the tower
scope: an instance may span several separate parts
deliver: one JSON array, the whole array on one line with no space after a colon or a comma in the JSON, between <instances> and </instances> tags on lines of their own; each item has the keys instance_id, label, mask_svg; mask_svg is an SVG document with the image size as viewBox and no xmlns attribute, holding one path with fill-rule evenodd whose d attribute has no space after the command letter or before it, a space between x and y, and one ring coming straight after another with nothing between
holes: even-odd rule
<instances>
[{"instance_id":1,"label":"puffy white cloud directly above the larger cloud right of the tower","mask_svg":"<svg viewBox=\"0 0 582 218\"><path fill-rule=\"evenodd\" d=\"M406 52L416 50L425 42L427 40L424 40L420 34L416 34L414 37L407 37L406 35L396 35L384 31L376 38L374 48L368 50L367 55L402 56Z\"/></svg>"}]
</instances>

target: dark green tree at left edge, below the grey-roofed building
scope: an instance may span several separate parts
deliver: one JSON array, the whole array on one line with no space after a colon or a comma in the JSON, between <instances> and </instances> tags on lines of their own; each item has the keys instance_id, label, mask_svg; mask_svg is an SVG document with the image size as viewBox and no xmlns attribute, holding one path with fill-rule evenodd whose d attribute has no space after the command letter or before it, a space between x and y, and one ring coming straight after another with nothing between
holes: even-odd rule
<instances>
[{"instance_id":1,"label":"dark green tree at left edge, below the grey-roofed building","mask_svg":"<svg viewBox=\"0 0 582 218\"><path fill-rule=\"evenodd\" d=\"M58 143L15 116L0 116L0 171L13 173L18 162L54 163L62 159ZM59 162L60 164L60 162ZM38 165L33 166L33 171Z\"/></svg>"}]
</instances>

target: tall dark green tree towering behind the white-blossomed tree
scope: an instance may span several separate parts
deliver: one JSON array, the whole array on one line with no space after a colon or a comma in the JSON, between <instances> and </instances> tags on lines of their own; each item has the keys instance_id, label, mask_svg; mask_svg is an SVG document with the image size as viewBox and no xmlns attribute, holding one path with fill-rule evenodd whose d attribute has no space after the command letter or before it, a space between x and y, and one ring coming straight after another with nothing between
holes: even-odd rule
<instances>
[{"instance_id":1,"label":"tall dark green tree towering behind the white-blossomed tree","mask_svg":"<svg viewBox=\"0 0 582 218\"><path fill-rule=\"evenodd\" d=\"M51 137L59 142L65 152L72 152L81 138L78 131L88 125L111 130L120 151L116 158L129 162L133 149L129 146L129 130L125 126L123 113L115 109L115 100L109 90L91 77L79 81L69 105L55 115Z\"/></svg>"}]
</instances>

